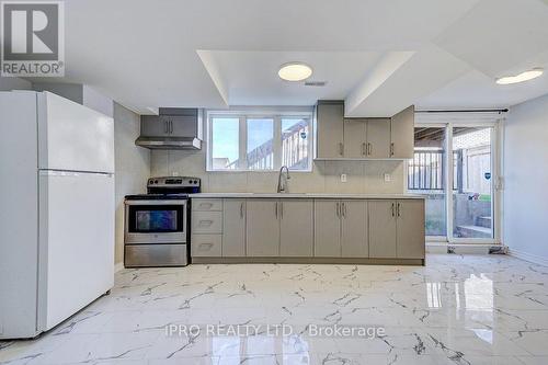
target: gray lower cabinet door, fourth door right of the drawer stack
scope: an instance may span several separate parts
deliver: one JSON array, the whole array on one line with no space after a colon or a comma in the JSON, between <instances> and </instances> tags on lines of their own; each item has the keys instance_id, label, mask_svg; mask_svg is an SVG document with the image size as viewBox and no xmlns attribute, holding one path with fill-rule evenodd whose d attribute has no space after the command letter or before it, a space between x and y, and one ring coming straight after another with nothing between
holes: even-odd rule
<instances>
[{"instance_id":1,"label":"gray lower cabinet door, fourth door right of the drawer stack","mask_svg":"<svg viewBox=\"0 0 548 365\"><path fill-rule=\"evenodd\" d=\"M313 255L317 258L340 258L341 203L334 199L316 199L313 212Z\"/></svg>"}]
</instances>

